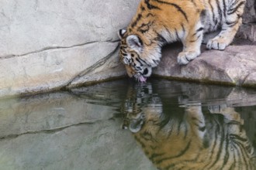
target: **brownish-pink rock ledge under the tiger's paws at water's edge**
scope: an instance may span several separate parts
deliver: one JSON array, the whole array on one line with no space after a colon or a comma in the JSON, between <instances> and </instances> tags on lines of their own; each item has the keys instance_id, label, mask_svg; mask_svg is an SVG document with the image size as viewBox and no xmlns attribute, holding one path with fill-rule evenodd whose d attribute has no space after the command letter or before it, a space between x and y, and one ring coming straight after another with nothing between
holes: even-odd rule
<instances>
[{"instance_id":1,"label":"brownish-pink rock ledge under the tiger's paws at water's edge","mask_svg":"<svg viewBox=\"0 0 256 170\"><path fill-rule=\"evenodd\" d=\"M226 83L237 86L255 86L256 48L254 46L228 46L224 51L206 50L186 66L177 63L181 46L170 45L163 49L161 63L154 75L178 80Z\"/></svg>"}]
</instances>

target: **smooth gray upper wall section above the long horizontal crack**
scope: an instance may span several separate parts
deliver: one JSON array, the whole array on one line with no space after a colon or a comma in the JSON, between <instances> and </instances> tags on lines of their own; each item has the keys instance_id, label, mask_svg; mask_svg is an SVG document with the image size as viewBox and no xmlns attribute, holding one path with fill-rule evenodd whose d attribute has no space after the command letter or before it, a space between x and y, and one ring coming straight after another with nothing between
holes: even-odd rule
<instances>
[{"instance_id":1,"label":"smooth gray upper wall section above the long horizontal crack","mask_svg":"<svg viewBox=\"0 0 256 170\"><path fill-rule=\"evenodd\" d=\"M0 56L116 40L116 32L130 22L138 2L3 0Z\"/></svg>"}]
</instances>

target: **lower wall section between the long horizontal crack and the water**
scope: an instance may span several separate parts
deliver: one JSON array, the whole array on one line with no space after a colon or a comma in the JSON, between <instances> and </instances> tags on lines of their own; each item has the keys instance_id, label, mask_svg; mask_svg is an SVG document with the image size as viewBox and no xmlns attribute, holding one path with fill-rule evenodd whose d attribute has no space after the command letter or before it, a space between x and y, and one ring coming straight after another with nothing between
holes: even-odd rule
<instances>
[{"instance_id":1,"label":"lower wall section between the long horizontal crack and the water","mask_svg":"<svg viewBox=\"0 0 256 170\"><path fill-rule=\"evenodd\" d=\"M0 96L65 87L81 73L90 73L92 69L99 70L102 63L109 63L104 67L104 74L99 70L99 73L95 73L89 80L122 76L124 70L118 67L118 57L112 55L116 46L118 42L93 42L1 59Z\"/></svg>"}]
</instances>

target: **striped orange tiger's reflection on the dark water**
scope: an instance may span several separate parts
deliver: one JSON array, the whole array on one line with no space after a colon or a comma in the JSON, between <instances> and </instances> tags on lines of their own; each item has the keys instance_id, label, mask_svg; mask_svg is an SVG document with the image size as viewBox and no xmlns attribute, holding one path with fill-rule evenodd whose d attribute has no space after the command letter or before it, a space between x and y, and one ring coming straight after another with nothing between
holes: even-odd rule
<instances>
[{"instance_id":1,"label":"striped orange tiger's reflection on the dark water","mask_svg":"<svg viewBox=\"0 0 256 170\"><path fill-rule=\"evenodd\" d=\"M152 91L150 83L129 88L122 127L133 133L157 168L256 169L254 148L234 108L215 104L202 113L199 103L170 104L178 107L176 113L164 109Z\"/></svg>"}]
</instances>

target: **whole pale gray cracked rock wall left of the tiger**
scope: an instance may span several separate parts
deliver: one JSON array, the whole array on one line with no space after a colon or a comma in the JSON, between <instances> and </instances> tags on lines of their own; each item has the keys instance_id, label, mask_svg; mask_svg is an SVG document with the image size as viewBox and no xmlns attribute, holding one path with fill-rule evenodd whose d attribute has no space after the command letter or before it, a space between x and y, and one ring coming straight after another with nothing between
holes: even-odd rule
<instances>
[{"instance_id":1,"label":"whole pale gray cracked rock wall left of the tiger","mask_svg":"<svg viewBox=\"0 0 256 170\"><path fill-rule=\"evenodd\" d=\"M116 32L139 2L1 1L0 97L123 76Z\"/></svg>"}]
</instances>

